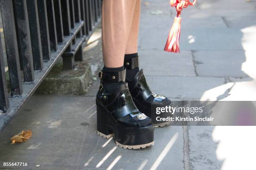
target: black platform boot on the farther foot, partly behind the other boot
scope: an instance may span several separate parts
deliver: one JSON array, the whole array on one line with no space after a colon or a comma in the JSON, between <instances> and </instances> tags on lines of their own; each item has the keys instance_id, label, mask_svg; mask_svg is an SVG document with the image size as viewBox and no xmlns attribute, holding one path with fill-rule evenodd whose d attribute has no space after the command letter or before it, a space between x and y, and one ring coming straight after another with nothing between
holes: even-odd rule
<instances>
[{"instance_id":1,"label":"black platform boot on the farther foot, partly behind the other boot","mask_svg":"<svg viewBox=\"0 0 256 170\"><path fill-rule=\"evenodd\" d=\"M139 66L138 57L127 58L125 57L124 66L128 69L136 69ZM156 104L158 107L172 106L173 103L167 97L163 95L157 95L152 92L147 85L146 78L143 75L143 70L140 70L133 78L133 80L128 80L126 77L126 82L128 82L128 87L131 92L133 102L137 106L140 112L145 113L148 117L152 118L152 122L155 127L169 125L171 121L157 121L156 113L151 112L152 105ZM165 112L159 115L160 117L172 117L172 113Z\"/></svg>"}]
</instances>

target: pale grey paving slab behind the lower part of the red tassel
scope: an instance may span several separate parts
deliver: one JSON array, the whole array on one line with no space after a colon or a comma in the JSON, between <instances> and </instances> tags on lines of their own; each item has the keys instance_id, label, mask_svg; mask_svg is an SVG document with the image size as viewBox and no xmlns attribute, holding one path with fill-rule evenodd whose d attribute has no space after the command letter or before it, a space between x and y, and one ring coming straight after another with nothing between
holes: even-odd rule
<instances>
[{"instance_id":1,"label":"pale grey paving slab behind the lower part of the red tassel","mask_svg":"<svg viewBox=\"0 0 256 170\"><path fill-rule=\"evenodd\" d=\"M140 35L140 49L163 50L169 30L162 30L160 26L159 29L156 27L144 29ZM234 28L182 29L180 50L243 50L242 37L241 30Z\"/></svg>"}]
</instances>

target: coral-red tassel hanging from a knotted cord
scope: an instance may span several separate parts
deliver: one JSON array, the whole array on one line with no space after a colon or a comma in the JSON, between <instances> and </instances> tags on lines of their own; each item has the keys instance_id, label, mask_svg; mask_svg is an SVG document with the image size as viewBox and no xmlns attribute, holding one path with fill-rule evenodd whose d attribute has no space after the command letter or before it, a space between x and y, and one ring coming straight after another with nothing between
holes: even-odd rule
<instances>
[{"instance_id":1,"label":"coral-red tassel hanging from a knotted cord","mask_svg":"<svg viewBox=\"0 0 256 170\"><path fill-rule=\"evenodd\" d=\"M179 37L180 37L180 14L183 8L195 5L196 0L190 2L189 0L170 0L170 5L176 7L177 16L174 18L174 23L169 32L164 51L167 52L179 52Z\"/></svg>"}]
</instances>

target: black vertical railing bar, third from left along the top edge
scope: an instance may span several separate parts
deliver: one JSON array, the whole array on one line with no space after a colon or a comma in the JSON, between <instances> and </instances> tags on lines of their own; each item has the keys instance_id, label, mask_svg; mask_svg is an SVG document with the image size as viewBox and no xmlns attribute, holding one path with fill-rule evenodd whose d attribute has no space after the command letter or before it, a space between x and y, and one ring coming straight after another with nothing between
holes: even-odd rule
<instances>
[{"instance_id":1,"label":"black vertical railing bar, third from left along the top edge","mask_svg":"<svg viewBox=\"0 0 256 170\"><path fill-rule=\"evenodd\" d=\"M38 20L37 0L28 0L27 7L34 69L42 70L44 65Z\"/></svg>"}]
</instances>

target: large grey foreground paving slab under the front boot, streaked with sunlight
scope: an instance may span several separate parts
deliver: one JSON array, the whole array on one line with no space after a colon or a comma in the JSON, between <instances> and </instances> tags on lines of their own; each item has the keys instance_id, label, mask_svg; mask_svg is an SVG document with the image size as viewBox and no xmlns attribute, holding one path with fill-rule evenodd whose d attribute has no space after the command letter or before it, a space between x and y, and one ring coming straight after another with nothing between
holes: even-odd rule
<instances>
[{"instance_id":1,"label":"large grey foreground paving slab under the front boot, streaked with sunlight","mask_svg":"<svg viewBox=\"0 0 256 170\"><path fill-rule=\"evenodd\" d=\"M125 150L113 139L96 133L94 97L33 95L0 134L0 160L27 162L24 169L159 169L183 170L183 130L169 126L155 130L155 145ZM21 130L33 135L26 143L10 144ZM36 168L36 165L40 167ZM0 165L1 168L2 164Z\"/></svg>"}]
</instances>

